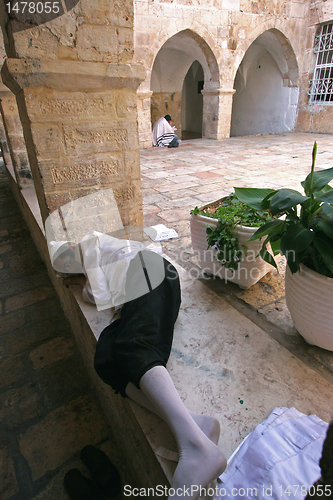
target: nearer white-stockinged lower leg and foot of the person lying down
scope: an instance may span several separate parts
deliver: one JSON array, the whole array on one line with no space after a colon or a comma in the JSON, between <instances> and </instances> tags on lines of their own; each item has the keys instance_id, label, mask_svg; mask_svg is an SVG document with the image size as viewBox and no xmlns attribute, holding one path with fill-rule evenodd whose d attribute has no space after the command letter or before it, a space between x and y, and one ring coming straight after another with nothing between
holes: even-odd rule
<instances>
[{"instance_id":1,"label":"nearer white-stockinged lower leg and foot of the person lying down","mask_svg":"<svg viewBox=\"0 0 333 500\"><path fill-rule=\"evenodd\" d=\"M176 493L169 499L194 500L200 486L207 487L224 471L226 458L194 422L166 368L155 366L148 370L140 380L140 388L177 441L179 463L172 481Z\"/></svg>"}]
</instances>

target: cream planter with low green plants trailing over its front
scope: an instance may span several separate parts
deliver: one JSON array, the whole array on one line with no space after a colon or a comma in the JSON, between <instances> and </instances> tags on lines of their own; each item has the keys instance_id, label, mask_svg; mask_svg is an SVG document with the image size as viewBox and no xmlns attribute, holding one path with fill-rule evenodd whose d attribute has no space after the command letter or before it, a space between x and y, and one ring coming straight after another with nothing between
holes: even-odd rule
<instances>
[{"instance_id":1,"label":"cream planter with low green plants trailing over its front","mask_svg":"<svg viewBox=\"0 0 333 500\"><path fill-rule=\"evenodd\" d=\"M272 266L258 256L262 242L249 238L271 220L267 211L240 202L234 193L191 211L191 238L198 263L207 274L249 288Z\"/></svg>"}]
</instances>

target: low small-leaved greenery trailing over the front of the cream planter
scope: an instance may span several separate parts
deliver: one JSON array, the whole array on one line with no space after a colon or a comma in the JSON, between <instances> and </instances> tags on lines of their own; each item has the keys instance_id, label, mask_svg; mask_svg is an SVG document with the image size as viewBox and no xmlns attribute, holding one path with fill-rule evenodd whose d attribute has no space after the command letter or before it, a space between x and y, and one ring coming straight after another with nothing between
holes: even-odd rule
<instances>
[{"instance_id":1,"label":"low small-leaved greenery trailing over the front of the cream planter","mask_svg":"<svg viewBox=\"0 0 333 500\"><path fill-rule=\"evenodd\" d=\"M216 258L228 269L238 269L242 260L243 252L246 254L246 246L239 248L238 238L234 234L236 225L241 224L249 227L259 227L263 222L271 220L267 211L261 211L246 205L231 193L214 213L208 211L200 212L198 207L191 214L204 215L217 219L219 224L215 229L207 227L208 248L216 251Z\"/></svg>"}]
</instances>

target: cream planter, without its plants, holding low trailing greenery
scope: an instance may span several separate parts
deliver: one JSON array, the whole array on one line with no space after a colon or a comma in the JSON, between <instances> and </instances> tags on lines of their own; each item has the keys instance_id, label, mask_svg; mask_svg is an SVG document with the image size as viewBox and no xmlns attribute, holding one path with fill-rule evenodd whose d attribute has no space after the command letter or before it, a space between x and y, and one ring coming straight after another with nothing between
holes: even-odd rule
<instances>
[{"instance_id":1,"label":"cream planter, without its plants, holding low trailing greenery","mask_svg":"<svg viewBox=\"0 0 333 500\"><path fill-rule=\"evenodd\" d=\"M200 207L200 211L204 211L209 205L214 205L217 202L212 202L208 205ZM257 228L247 226L235 226L235 236L239 240L239 247L242 245L247 247L247 255L244 255L239 262L237 271L225 268L220 261L216 259L216 251L211 248L207 249L207 234L206 228L210 226L216 228L218 221L204 215L191 215L190 228L192 247L195 250L195 255L198 259L198 264L206 274L218 276L226 281L232 281L241 288L249 288L271 271L273 266L267 264L261 257L257 257L262 247L261 240L248 241L255 233Z\"/></svg>"}]
</instances>

